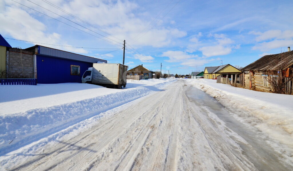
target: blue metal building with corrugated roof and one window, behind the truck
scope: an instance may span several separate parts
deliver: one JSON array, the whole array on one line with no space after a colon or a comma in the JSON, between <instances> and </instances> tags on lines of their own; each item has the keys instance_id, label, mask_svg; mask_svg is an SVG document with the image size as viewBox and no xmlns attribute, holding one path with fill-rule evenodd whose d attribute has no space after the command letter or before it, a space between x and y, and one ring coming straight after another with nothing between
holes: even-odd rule
<instances>
[{"instance_id":1,"label":"blue metal building with corrugated roof and one window, behind the truck","mask_svg":"<svg viewBox=\"0 0 293 171\"><path fill-rule=\"evenodd\" d=\"M81 77L93 63L106 60L35 45L25 50L34 50L35 78L40 84L81 83Z\"/></svg>"}]
</instances>

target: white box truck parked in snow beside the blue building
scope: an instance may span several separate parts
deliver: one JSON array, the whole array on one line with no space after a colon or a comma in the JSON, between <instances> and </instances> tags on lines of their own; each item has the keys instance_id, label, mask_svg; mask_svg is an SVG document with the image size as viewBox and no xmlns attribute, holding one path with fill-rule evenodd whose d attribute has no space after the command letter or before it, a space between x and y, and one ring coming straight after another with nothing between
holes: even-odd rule
<instances>
[{"instance_id":1,"label":"white box truck parked in snow beside the blue building","mask_svg":"<svg viewBox=\"0 0 293 171\"><path fill-rule=\"evenodd\" d=\"M82 83L102 85L108 88L126 86L127 66L122 64L93 64L82 76Z\"/></svg>"}]
</instances>

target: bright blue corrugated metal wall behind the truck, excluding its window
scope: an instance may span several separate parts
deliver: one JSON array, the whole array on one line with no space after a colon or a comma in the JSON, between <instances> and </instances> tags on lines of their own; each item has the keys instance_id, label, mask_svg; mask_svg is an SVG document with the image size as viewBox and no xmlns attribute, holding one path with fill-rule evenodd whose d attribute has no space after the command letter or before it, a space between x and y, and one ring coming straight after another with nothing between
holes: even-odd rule
<instances>
[{"instance_id":1,"label":"bright blue corrugated metal wall behind the truck, excluding its window","mask_svg":"<svg viewBox=\"0 0 293 171\"><path fill-rule=\"evenodd\" d=\"M70 65L80 66L80 75L71 75ZM81 77L93 63L37 55L39 84L81 83Z\"/></svg>"}]
</instances>

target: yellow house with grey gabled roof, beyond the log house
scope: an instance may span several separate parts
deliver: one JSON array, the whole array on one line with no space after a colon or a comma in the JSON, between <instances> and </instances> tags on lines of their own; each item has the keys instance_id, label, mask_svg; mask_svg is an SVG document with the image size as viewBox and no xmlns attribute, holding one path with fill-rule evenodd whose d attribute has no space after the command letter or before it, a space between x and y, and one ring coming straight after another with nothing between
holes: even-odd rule
<instances>
[{"instance_id":1,"label":"yellow house with grey gabled roof, beyond the log house","mask_svg":"<svg viewBox=\"0 0 293 171\"><path fill-rule=\"evenodd\" d=\"M221 66L205 67L205 78L207 79L217 79L217 76L221 74L237 74L241 71L230 64Z\"/></svg>"}]
</instances>

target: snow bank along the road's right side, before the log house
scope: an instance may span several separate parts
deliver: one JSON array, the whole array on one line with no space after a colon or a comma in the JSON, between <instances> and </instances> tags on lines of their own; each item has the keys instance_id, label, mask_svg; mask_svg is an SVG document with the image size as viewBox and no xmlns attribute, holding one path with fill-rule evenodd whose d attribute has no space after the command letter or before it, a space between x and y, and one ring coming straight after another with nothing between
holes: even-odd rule
<instances>
[{"instance_id":1,"label":"snow bank along the road's right side, before the log house","mask_svg":"<svg viewBox=\"0 0 293 171\"><path fill-rule=\"evenodd\" d=\"M186 82L217 99L242 122L293 148L293 95L236 88L211 79L188 79Z\"/></svg>"}]
</instances>

